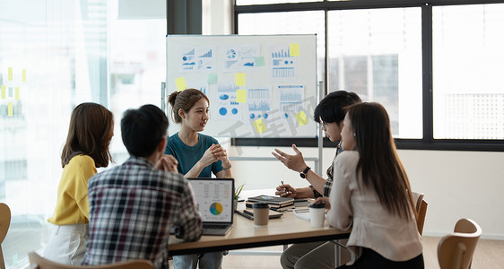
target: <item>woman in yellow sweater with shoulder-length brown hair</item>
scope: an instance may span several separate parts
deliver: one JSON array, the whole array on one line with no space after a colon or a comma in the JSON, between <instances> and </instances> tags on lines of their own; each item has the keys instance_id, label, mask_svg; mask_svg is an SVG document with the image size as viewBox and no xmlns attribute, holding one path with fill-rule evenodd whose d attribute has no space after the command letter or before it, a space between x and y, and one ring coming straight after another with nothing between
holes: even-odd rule
<instances>
[{"instance_id":1,"label":"woman in yellow sweater with shoulder-length brown hair","mask_svg":"<svg viewBox=\"0 0 504 269\"><path fill-rule=\"evenodd\" d=\"M107 167L114 117L95 103L74 108L61 154L63 173L57 187L53 225L44 256L49 260L81 265L89 236L88 180L99 167Z\"/></svg>"}]
</instances>

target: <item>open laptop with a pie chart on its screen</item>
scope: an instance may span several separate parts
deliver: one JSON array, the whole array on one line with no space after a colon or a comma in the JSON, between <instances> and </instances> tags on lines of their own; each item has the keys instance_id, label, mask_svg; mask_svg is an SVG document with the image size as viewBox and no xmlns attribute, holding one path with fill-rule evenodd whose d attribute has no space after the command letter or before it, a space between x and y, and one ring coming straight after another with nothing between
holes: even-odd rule
<instances>
[{"instance_id":1,"label":"open laptop with a pie chart on its screen","mask_svg":"<svg viewBox=\"0 0 504 269\"><path fill-rule=\"evenodd\" d=\"M204 235L223 236L233 224L233 178L187 178L193 187Z\"/></svg>"}]
</instances>

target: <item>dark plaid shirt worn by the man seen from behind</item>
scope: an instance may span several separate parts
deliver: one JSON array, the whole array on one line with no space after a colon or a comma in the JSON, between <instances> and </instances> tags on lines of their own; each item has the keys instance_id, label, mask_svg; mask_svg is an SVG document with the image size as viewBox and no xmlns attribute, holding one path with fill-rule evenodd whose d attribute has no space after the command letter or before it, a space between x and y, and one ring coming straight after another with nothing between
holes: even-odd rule
<instances>
[{"instance_id":1,"label":"dark plaid shirt worn by the man seen from behind","mask_svg":"<svg viewBox=\"0 0 504 269\"><path fill-rule=\"evenodd\" d=\"M182 238L202 235L193 190L177 173L155 169L151 161L130 157L89 180L90 237L83 265L147 259L168 268L172 225Z\"/></svg>"}]
</instances>

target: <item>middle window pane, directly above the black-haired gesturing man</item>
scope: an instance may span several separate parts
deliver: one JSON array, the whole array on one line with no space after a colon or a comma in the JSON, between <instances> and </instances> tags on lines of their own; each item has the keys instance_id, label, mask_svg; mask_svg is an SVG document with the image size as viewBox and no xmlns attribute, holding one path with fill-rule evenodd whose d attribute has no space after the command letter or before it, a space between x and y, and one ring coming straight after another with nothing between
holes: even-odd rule
<instances>
[{"instance_id":1,"label":"middle window pane, directly above the black-haired gesturing man","mask_svg":"<svg viewBox=\"0 0 504 269\"><path fill-rule=\"evenodd\" d=\"M397 138L421 138L421 9L330 11L329 91L387 108Z\"/></svg>"}]
</instances>

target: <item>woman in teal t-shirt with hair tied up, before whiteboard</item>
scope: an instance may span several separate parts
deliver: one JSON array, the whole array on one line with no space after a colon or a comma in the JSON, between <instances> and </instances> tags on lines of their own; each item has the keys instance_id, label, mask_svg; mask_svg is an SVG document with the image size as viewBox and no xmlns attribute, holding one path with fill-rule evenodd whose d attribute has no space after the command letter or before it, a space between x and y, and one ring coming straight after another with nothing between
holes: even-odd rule
<instances>
[{"instance_id":1,"label":"woman in teal t-shirt with hair tied up, before whiteboard","mask_svg":"<svg viewBox=\"0 0 504 269\"><path fill-rule=\"evenodd\" d=\"M165 154L178 161L178 172L186 178L231 178L228 154L215 138L200 134L209 119L210 101L202 91L187 89L169 95L171 116L180 124L177 134L169 137ZM200 255L173 256L175 268L221 268L222 251Z\"/></svg>"}]
</instances>

